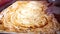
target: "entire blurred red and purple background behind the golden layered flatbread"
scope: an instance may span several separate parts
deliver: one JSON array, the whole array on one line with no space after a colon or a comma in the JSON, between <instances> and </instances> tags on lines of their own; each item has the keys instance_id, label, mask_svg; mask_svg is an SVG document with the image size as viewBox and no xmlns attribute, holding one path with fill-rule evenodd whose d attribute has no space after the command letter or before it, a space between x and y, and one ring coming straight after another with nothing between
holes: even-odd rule
<instances>
[{"instance_id":1,"label":"entire blurred red and purple background behind the golden layered flatbread","mask_svg":"<svg viewBox=\"0 0 60 34\"><path fill-rule=\"evenodd\" d=\"M0 12L18 0L0 0ZM27 0L20 0L27 1ZM45 1L48 3L47 12L54 14L57 21L60 23L60 0L28 0L28 1Z\"/></svg>"}]
</instances>

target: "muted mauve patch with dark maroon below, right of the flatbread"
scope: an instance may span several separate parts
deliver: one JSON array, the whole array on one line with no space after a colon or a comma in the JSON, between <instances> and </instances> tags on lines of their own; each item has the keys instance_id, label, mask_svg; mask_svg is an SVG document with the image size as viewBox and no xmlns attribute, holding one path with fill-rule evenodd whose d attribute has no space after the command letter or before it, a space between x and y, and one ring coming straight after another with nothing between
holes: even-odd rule
<instances>
[{"instance_id":1,"label":"muted mauve patch with dark maroon below, right of the flatbread","mask_svg":"<svg viewBox=\"0 0 60 34\"><path fill-rule=\"evenodd\" d=\"M47 9L47 11L50 12L50 13L52 13L52 14L54 14L55 18L60 23L60 7L50 6Z\"/></svg>"}]
</instances>

